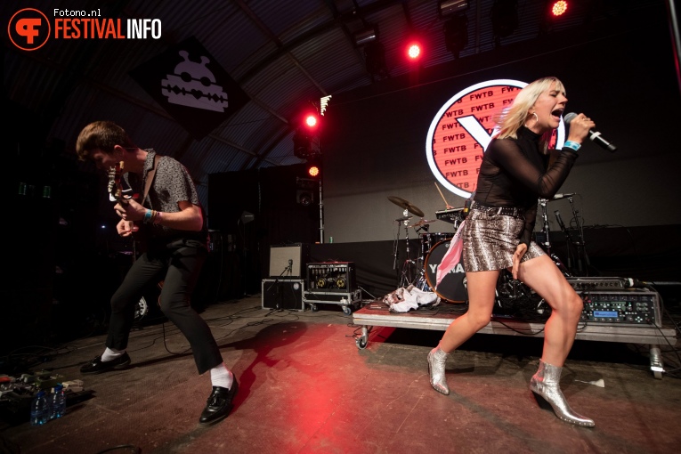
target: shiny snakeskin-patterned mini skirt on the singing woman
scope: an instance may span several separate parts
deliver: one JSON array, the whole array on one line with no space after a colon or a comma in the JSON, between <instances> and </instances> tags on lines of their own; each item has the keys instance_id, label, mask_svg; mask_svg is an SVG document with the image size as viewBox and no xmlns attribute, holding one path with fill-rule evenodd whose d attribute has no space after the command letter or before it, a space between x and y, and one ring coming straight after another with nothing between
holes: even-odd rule
<instances>
[{"instance_id":1,"label":"shiny snakeskin-patterned mini skirt on the singing woman","mask_svg":"<svg viewBox=\"0 0 681 454\"><path fill-rule=\"evenodd\" d=\"M515 247L520 240L523 217L497 215L472 209L463 231L463 261L466 272L501 270L513 266ZM521 262L546 253L532 241Z\"/></svg>"}]
</instances>

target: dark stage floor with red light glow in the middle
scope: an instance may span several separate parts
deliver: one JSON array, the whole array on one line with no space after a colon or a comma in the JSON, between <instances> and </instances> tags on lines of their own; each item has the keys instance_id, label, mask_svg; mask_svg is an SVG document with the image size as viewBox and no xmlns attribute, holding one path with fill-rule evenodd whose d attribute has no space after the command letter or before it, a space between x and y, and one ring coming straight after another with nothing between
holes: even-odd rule
<instances>
[{"instance_id":1,"label":"dark stage floor with red light glow in the middle","mask_svg":"<svg viewBox=\"0 0 681 454\"><path fill-rule=\"evenodd\" d=\"M186 340L168 323L134 331L127 370L79 375L101 353L103 334L40 353L36 369L82 379L90 395L45 426L0 422L0 452L621 454L681 446L679 360L669 346L661 345L669 373L656 379L645 345L576 341L562 386L572 407L595 419L588 429L540 409L528 390L541 338L475 335L451 355L452 393L444 396L426 367L442 331L377 326L358 348L362 326L353 316L318 307L272 312L260 296L207 307L202 316L240 384L230 417L215 426L198 425L210 378L197 375Z\"/></svg>"}]
</instances>

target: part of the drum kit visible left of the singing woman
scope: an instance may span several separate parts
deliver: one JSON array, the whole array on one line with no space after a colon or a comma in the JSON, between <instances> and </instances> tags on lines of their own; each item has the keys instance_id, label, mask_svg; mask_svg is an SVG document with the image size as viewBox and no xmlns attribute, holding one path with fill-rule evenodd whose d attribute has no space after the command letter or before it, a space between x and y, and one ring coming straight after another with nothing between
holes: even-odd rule
<instances>
[{"instance_id":1,"label":"part of the drum kit visible left of the singing woman","mask_svg":"<svg viewBox=\"0 0 681 454\"><path fill-rule=\"evenodd\" d=\"M450 302L465 302L466 294L466 273L463 266L458 266L443 279L441 284L435 288L437 267L442 262L442 257L450 247L450 240L454 237L453 232L430 232L430 223L440 221L452 223L456 228L463 219L458 215L460 210L454 209L447 211L449 215L440 215L438 219L425 219L424 212L411 204L408 200L399 197L388 197L393 204L403 209L402 216L395 219L401 228L404 225L404 243L406 245L407 257L401 265L398 288L408 288L410 285L428 292L434 292L437 296ZM451 212L451 213L450 213ZM421 219L416 223L409 224L409 221L416 215ZM414 229L418 233L419 249L418 256L414 259L409 247L409 229ZM398 239L400 233L398 232ZM393 270L397 270L399 241L395 241L393 247Z\"/></svg>"}]
</instances>

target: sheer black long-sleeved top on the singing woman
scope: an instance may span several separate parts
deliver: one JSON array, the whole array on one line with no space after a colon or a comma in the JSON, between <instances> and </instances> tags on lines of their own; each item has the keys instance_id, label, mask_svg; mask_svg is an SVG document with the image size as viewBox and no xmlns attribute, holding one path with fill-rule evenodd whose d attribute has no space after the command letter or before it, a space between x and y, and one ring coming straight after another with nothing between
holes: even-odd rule
<instances>
[{"instance_id":1,"label":"sheer black long-sleeved top on the singing woman","mask_svg":"<svg viewBox=\"0 0 681 454\"><path fill-rule=\"evenodd\" d=\"M523 126L517 135L517 139L492 139L490 142L482 158L474 200L488 207L523 208L525 228L520 240L529 246L538 199L550 199L555 195L578 155L565 149L549 166L549 155L539 150L539 134Z\"/></svg>"}]
</instances>

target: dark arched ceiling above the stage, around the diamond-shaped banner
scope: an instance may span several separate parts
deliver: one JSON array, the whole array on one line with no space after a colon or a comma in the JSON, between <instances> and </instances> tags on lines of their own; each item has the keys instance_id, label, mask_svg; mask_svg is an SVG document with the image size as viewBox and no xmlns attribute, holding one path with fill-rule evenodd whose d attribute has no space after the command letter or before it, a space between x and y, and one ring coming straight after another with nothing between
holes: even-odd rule
<instances>
[{"instance_id":1,"label":"dark arched ceiling above the stage, around the diamond-shaped banner","mask_svg":"<svg viewBox=\"0 0 681 454\"><path fill-rule=\"evenodd\" d=\"M496 39L501 46L664 4L571 0L570 14L549 27L543 20L546 1L511 3L516 4L518 24L509 36ZM461 12L468 28L459 59L494 49L490 21L494 4L471 0ZM99 8L102 17L161 21L160 39L53 40L33 52L18 50L5 36L4 93L12 106L30 113L35 121L31 134L41 141L61 142L67 151L73 150L79 130L88 122L118 122L140 146L174 156L187 166L204 203L208 174L300 162L293 153L292 121L303 106L319 107L321 97L383 83L385 74L369 74L363 49L354 44L356 32L378 28L390 77L413 69L403 56L410 33L417 33L425 45L422 68L456 60L444 43L443 27L450 17L442 16L437 0L36 0L30 5L4 2L5 20L21 7L45 13L55 8ZM201 140L195 140L130 75L190 37L215 57L249 98ZM333 98L328 109L333 109Z\"/></svg>"}]
</instances>

